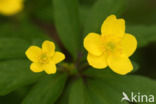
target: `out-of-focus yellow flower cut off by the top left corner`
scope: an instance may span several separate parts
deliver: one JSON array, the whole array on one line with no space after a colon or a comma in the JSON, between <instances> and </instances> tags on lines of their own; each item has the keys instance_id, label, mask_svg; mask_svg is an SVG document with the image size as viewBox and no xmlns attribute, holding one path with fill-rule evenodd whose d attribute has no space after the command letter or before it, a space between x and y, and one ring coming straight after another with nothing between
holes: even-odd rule
<instances>
[{"instance_id":1,"label":"out-of-focus yellow flower cut off by the top left corner","mask_svg":"<svg viewBox=\"0 0 156 104\"><path fill-rule=\"evenodd\" d=\"M0 14L14 15L23 9L23 0L0 0Z\"/></svg>"}]
</instances>

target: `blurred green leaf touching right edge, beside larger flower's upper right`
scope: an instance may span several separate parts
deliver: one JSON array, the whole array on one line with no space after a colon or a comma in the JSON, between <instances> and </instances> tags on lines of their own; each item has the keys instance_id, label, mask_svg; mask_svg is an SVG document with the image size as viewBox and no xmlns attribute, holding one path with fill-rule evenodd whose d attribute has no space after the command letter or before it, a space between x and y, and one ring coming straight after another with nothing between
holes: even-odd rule
<instances>
[{"instance_id":1,"label":"blurred green leaf touching right edge, beside larger flower's upper right","mask_svg":"<svg viewBox=\"0 0 156 104\"><path fill-rule=\"evenodd\" d=\"M156 26L133 25L127 27L127 32L133 34L137 41L138 47L143 47L151 42L156 41Z\"/></svg>"}]
</instances>

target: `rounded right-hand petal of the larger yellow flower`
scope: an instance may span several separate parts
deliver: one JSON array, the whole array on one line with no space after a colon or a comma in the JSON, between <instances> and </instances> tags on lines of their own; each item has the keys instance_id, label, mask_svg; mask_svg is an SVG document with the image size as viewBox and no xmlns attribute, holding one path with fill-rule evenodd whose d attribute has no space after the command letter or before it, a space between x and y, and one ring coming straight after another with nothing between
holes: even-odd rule
<instances>
[{"instance_id":1,"label":"rounded right-hand petal of the larger yellow flower","mask_svg":"<svg viewBox=\"0 0 156 104\"><path fill-rule=\"evenodd\" d=\"M131 56L137 48L136 38L131 34L124 35L123 39L121 40L121 48L123 54L128 57Z\"/></svg>"}]
</instances>

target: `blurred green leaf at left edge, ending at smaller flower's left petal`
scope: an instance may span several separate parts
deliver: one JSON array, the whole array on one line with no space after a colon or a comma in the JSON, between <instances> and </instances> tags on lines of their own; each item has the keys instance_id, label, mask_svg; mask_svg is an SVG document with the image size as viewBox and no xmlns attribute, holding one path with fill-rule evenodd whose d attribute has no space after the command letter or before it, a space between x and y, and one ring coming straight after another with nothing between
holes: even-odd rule
<instances>
[{"instance_id":1,"label":"blurred green leaf at left edge, ending at smaller flower's left petal","mask_svg":"<svg viewBox=\"0 0 156 104\"><path fill-rule=\"evenodd\" d=\"M0 38L0 59L24 58L29 42L19 38Z\"/></svg>"}]
</instances>

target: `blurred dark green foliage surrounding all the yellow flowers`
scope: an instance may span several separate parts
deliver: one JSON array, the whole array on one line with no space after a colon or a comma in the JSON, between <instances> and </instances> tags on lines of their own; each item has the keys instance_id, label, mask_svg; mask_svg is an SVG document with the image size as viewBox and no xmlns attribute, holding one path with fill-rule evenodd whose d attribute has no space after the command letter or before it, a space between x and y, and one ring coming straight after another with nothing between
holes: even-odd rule
<instances>
[{"instance_id":1,"label":"blurred dark green foliage surrounding all the yellow flowers","mask_svg":"<svg viewBox=\"0 0 156 104\"><path fill-rule=\"evenodd\" d=\"M156 97L155 5L155 0L25 0L21 13L1 15L0 104L121 104L123 91ZM126 32L138 40L130 75L95 70L84 61L84 36L100 32L110 14L125 18ZM29 70L25 50L46 39L71 56L66 62L75 73L62 73L62 64L55 75Z\"/></svg>"}]
</instances>

